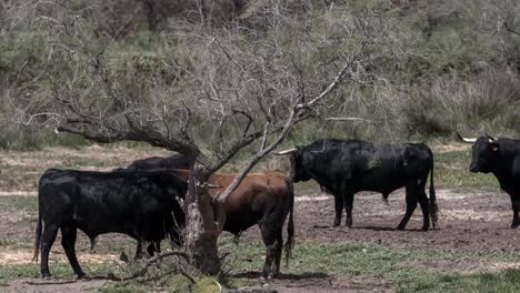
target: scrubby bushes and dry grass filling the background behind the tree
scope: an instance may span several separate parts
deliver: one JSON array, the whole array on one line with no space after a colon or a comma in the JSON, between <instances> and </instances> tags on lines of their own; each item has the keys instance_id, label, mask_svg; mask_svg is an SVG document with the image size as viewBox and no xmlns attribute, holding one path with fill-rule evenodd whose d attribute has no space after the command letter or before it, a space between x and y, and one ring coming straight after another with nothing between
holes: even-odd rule
<instances>
[{"instance_id":1,"label":"scrubby bushes and dry grass filling the background behind the tree","mask_svg":"<svg viewBox=\"0 0 520 293\"><path fill-rule=\"evenodd\" d=\"M191 44L179 36L200 23L204 13L211 16L210 21L216 28L238 23L227 32L241 40L243 46L252 46L249 43L252 39L268 42L269 38L274 38L272 33L277 33L277 40L284 41L281 47L289 54L286 60L292 60L306 82L306 78L312 77L306 77L306 72L317 68L313 64L336 61L334 52L327 51L331 43L334 48L353 50L359 34L374 44L367 46L366 50L394 50L398 58L363 69L369 77L373 73L374 80L363 80L367 87L341 87L334 93L333 107L320 109L320 119L292 132L290 144L322 137L422 141L453 139L456 130L469 135L483 132L517 135L520 130L517 111L520 103L520 21L516 18L520 4L516 1L210 2L211 6L202 7L198 1L120 0L106 3L74 0L67 1L67 10L81 16L94 28L92 36L80 38L90 40L81 46L92 52L98 47L103 48L112 74L128 78L127 85L139 83L139 87L160 77L161 81L170 82L173 92L182 92L182 87L188 85L179 82L182 72L167 70L164 64L196 65L197 60L187 60ZM54 31L46 28L58 12L46 11L46 6L39 1L2 0L0 3L0 148L88 144L79 137L52 135L51 117L38 117L38 123L31 121L26 125L28 121L22 113L28 108L44 108L34 101L46 101L54 94L57 87L62 85L57 83L67 80L63 75L73 73L62 64L68 59L63 51L59 51ZM272 23L264 23L267 18L262 14L271 7L289 16L292 26L259 33L261 28L272 28ZM371 26L356 26L354 29L368 31L344 36L343 30L334 27L346 26L348 22L339 21L344 19L371 22ZM62 23L64 31L67 26L86 26L74 22L73 18L68 21ZM249 36L252 31L254 36ZM63 40L61 34L60 40ZM301 41L306 43L299 43ZM82 49L78 43L74 46ZM322 72L324 75L334 73ZM87 89L78 90L77 94L87 94ZM369 122L333 122L324 121L323 117L358 117ZM200 128L200 135L208 135L204 128Z\"/></svg>"}]
</instances>

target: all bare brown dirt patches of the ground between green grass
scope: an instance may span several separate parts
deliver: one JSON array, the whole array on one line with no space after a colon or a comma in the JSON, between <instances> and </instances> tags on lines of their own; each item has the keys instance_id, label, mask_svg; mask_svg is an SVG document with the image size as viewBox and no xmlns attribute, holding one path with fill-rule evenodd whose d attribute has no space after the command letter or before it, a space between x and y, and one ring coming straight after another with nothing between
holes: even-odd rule
<instances>
[{"instance_id":1,"label":"all bare brown dirt patches of the ground between green grass","mask_svg":"<svg viewBox=\"0 0 520 293\"><path fill-rule=\"evenodd\" d=\"M453 253L512 252L520 249L520 231L509 229L512 212L506 193L460 193L438 190L440 208L437 230L420 231L422 218L416 210L406 231L396 231L404 213L402 191L389 196L386 205L379 194L359 193L356 195L353 228L331 228L333 221L333 199L323 193L309 193L296 201L296 238L298 243L378 243L394 249L433 249ZM3 215L4 216L4 215ZM0 218L2 215L0 214ZM6 218L6 216L4 216ZM0 239L16 239L21 234L32 242L36 215L21 215L20 219L0 219ZM247 231L242 238L258 240L257 228ZM86 242L86 240L82 240ZM59 243L59 242L57 242ZM88 243L83 243L87 245ZM59 245L54 245L58 257L63 257ZM0 263L27 263L31 250L0 250ZM81 253L80 253L81 255ZM104 255L104 254L102 254ZM99 262L100 257L117 259L117 255L81 255L82 262ZM463 263L457 261L421 261L408 263L424 270L494 271L517 266L516 263ZM518 264L520 266L520 263ZM259 281L258 273L244 273L242 277L258 285L269 285L279 292L392 292L392 285L381 280L367 277L344 277L331 275L282 275L276 281ZM81 292L102 284L102 281L81 281L58 285L33 285L36 280L19 280L11 284L12 292Z\"/></svg>"}]
</instances>

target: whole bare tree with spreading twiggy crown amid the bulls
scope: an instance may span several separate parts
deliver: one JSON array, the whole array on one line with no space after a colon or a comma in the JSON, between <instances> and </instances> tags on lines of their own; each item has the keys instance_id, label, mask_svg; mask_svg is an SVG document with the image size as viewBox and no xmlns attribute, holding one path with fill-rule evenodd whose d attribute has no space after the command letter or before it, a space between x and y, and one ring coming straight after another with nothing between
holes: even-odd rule
<instances>
[{"instance_id":1,"label":"whole bare tree with spreading twiggy crown amid the bulls","mask_svg":"<svg viewBox=\"0 0 520 293\"><path fill-rule=\"evenodd\" d=\"M331 7L314 18L291 14L286 1L271 2L262 11L268 30L186 23L130 59L122 57L124 48L96 36L96 19L84 11L32 2L36 21L27 26L48 37L52 61L42 73L47 87L12 102L13 119L52 123L97 142L142 141L184 154L192 163L189 259L201 272L218 274L219 202L296 123L341 101L342 82L370 88L378 79L367 69L400 54L383 16ZM249 160L212 199L208 178L240 152Z\"/></svg>"}]
</instances>

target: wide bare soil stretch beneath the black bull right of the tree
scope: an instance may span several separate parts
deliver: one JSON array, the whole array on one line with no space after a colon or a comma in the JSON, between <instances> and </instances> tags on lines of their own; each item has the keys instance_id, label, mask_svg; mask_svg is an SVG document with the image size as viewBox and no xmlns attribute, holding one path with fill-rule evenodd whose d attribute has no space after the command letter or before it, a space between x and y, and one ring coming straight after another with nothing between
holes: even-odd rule
<instances>
[{"instance_id":1,"label":"wide bare soil stretch beneath the black bull right of the tree","mask_svg":"<svg viewBox=\"0 0 520 293\"><path fill-rule=\"evenodd\" d=\"M520 230L510 229L512 210L504 193L453 194L438 191L440 209L437 230L422 232L422 213L416 210L406 231L396 228L404 215L404 192L389 196L386 205L380 194L359 193L354 199L353 228L332 228L333 198L314 194L317 200L296 202L296 235L298 242L337 243L373 242L396 249L437 249L447 252L512 252L520 249ZM308 195L309 196L309 195ZM311 198L311 196L310 196ZM258 230L247 233L259 238Z\"/></svg>"}]
</instances>

